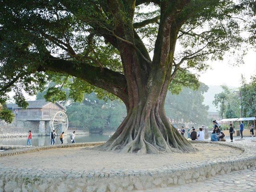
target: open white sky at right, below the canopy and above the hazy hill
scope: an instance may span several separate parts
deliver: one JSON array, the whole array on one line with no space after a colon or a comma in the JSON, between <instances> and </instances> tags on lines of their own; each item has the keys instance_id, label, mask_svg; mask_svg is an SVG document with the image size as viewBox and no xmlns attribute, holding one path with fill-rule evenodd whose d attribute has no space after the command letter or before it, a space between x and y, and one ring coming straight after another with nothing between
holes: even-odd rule
<instances>
[{"instance_id":1,"label":"open white sky at right, below the canopy and above the hazy hill","mask_svg":"<svg viewBox=\"0 0 256 192\"><path fill-rule=\"evenodd\" d=\"M223 61L210 61L211 66L206 72L201 74L199 80L206 85L227 85L239 87L241 82L241 74L250 81L252 75L256 75L256 54L253 50L248 51L244 56L244 64L232 66L229 64L228 58Z\"/></svg>"}]
</instances>

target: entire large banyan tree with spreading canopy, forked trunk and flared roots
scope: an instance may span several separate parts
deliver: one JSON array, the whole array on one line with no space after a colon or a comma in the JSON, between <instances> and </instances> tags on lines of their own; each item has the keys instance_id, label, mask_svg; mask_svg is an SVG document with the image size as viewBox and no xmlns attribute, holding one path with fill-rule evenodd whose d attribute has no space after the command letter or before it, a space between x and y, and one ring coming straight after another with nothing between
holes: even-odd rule
<instances>
[{"instance_id":1,"label":"entire large banyan tree with spreading canopy, forked trunk and flared roots","mask_svg":"<svg viewBox=\"0 0 256 192\"><path fill-rule=\"evenodd\" d=\"M166 93L241 48L241 10L232 0L2 0L1 102L13 91L26 107L23 93L49 81L52 101L66 98L63 87L76 101L110 93L127 116L100 149L194 151L166 118Z\"/></svg>"}]
</instances>

